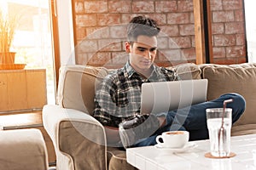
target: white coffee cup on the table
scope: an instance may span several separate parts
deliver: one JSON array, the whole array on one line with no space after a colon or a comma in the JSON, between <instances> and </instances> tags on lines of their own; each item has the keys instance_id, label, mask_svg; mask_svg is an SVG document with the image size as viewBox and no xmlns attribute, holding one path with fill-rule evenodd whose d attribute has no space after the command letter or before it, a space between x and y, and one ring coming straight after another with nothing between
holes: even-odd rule
<instances>
[{"instance_id":1,"label":"white coffee cup on the table","mask_svg":"<svg viewBox=\"0 0 256 170\"><path fill-rule=\"evenodd\" d=\"M160 142L160 139L163 142ZM189 142L188 131L169 131L156 137L156 142L164 147L183 148Z\"/></svg>"}]
</instances>

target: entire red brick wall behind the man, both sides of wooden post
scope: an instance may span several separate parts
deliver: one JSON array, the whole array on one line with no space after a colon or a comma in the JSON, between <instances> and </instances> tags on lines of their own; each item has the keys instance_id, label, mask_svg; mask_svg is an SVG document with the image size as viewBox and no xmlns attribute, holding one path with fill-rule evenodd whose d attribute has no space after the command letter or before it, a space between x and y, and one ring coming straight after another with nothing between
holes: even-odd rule
<instances>
[{"instance_id":1,"label":"entire red brick wall behind the man, both sides of wooden post","mask_svg":"<svg viewBox=\"0 0 256 170\"><path fill-rule=\"evenodd\" d=\"M242 0L211 0L214 62L245 59ZM157 20L158 65L195 62L193 0L73 0L76 62L120 67L125 54L125 24L137 14Z\"/></svg>"}]
</instances>

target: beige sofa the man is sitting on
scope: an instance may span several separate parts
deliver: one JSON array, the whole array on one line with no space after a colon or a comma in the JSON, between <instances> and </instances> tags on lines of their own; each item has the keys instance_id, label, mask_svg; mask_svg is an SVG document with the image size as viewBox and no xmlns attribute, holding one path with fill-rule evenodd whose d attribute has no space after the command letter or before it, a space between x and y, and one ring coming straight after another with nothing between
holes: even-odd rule
<instances>
[{"instance_id":1,"label":"beige sofa the man is sitting on","mask_svg":"<svg viewBox=\"0 0 256 170\"><path fill-rule=\"evenodd\" d=\"M208 79L207 99L239 93L247 100L245 114L232 127L232 135L256 133L256 64L170 67L182 79ZM125 151L106 146L104 128L91 114L95 87L108 75L105 68L65 65L60 70L58 105L45 105L43 122L55 145L60 170L134 169Z\"/></svg>"}]
</instances>

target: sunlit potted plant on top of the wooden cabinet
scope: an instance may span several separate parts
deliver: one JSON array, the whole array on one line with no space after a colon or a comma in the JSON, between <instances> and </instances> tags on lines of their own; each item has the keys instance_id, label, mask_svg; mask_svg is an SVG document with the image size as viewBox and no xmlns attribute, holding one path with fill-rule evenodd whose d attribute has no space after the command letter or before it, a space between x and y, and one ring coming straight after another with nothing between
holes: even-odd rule
<instances>
[{"instance_id":1,"label":"sunlit potted plant on top of the wooden cabinet","mask_svg":"<svg viewBox=\"0 0 256 170\"><path fill-rule=\"evenodd\" d=\"M0 65L14 65L15 52L10 48L18 26L18 15L4 14L0 9Z\"/></svg>"}]
</instances>

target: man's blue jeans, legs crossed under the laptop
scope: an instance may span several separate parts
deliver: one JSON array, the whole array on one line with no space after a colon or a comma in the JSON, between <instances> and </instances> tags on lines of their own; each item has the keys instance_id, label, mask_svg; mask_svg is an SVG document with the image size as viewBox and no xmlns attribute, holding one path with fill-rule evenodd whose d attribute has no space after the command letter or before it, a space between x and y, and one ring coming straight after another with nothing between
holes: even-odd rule
<instances>
[{"instance_id":1,"label":"man's blue jeans, legs crossed under the laptop","mask_svg":"<svg viewBox=\"0 0 256 170\"><path fill-rule=\"evenodd\" d=\"M206 109L222 108L224 100L226 99L233 99L233 102L227 104L227 108L232 108L232 123L236 122L245 111L246 101L240 94L224 94L218 99L165 113L166 125L160 127L150 137L139 140L137 144L134 144L132 147L154 145L156 144L156 136L166 131L175 130L189 131L190 141L208 139Z\"/></svg>"}]
</instances>

